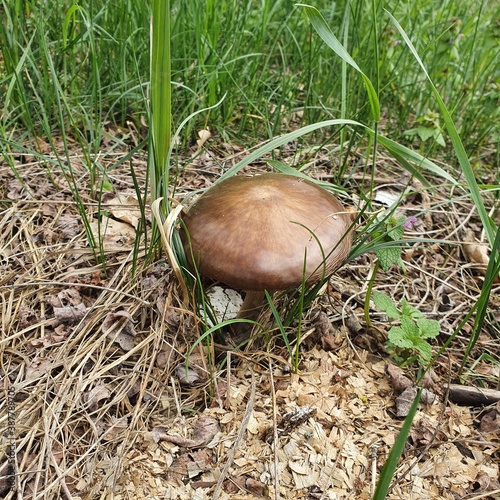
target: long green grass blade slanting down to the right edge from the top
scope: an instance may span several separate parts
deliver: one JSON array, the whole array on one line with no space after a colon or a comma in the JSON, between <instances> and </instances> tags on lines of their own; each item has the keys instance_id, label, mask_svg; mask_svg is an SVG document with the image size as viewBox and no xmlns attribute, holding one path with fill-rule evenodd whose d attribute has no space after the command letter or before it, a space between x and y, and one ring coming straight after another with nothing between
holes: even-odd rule
<instances>
[{"instance_id":1,"label":"long green grass blade slanting down to the right edge from the top","mask_svg":"<svg viewBox=\"0 0 500 500\"><path fill-rule=\"evenodd\" d=\"M391 19L392 23L396 27L396 29L399 31L400 35L403 37L405 40L406 44L408 45L408 48L410 49L411 53L413 54L413 57L419 64L419 66L422 69L422 72L424 73L425 77L427 78L429 85L431 87L432 93L438 103L439 109L441 111L441 114L444 119L444 123L446 125L446 129L448 130L448 134L450 135L451 142L453 144L453 148L455 150L455 154L457 155L458 162L462 168L462 173L464 174L465 180L467 182L467 186L470 190L471 198L474 202L474 205L476 206L476 209L478 211L479 217L481 219L481 222L483 223L483 227L486 231L486 235L488 237L488 241L490 243L490 246L493 246L493 242L495 240L495 232L496 232L496 225L494 221L489 217L486 208L484 206L484 202L481 196L481 192L479 190L479 187L477 185L476 181L476 176L474 175L474 171L472 169L472 166L469 161L469 157L467 156L467 153L465 151L465 148L463 146L462 140L460 138L460 135L457 131L457 128L455 127L455 123L453 122L453 119L451 117L450 112L448 111L448 108L446 104L444 103L439 91L437 90L436 86L434 85L431 77L429 76L429 73L427 72L427 69L422 62L422 59L420 58L417 50L415 49L413 43L409 39L408 35L406 34L405 30L402 28L402 26L399 24L399 22L396 20L396 18L387 10L385 10L389 18Z\"/></svg>"}]
</instances>

